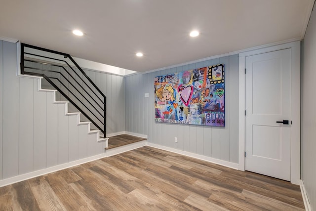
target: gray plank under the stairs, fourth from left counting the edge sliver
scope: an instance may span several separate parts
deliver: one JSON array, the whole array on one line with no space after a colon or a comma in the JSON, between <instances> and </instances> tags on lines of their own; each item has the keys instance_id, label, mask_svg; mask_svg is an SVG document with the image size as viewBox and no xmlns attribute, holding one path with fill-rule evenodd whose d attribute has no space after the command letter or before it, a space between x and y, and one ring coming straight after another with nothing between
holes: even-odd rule
<instances>
[{"instance_id":1,"label":"gray plank under the stairs, fourth from left counting the edge sliver","mask_svg":"<svg viewBox=\"0 0 316 211\"><path fill-rule=\"evenodd\" d=\"M43 80L42 80L43 81ZM33 135L34 156L33 170L46 167L46 92L38 91L38 80L34 80L34 113L33 113Z\"/></svg>"}]
</instances>

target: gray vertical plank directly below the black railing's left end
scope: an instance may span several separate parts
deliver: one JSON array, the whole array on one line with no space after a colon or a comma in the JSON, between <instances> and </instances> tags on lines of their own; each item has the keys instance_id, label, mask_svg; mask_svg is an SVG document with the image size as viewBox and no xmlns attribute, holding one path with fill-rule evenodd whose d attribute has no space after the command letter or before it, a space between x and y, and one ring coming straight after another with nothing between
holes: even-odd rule
<instances>
[{"instance_id":1,"label":"gray vertical plank directly below the black railing's left end","mask_svg":"<svg viewBox=\"0 0 316 211\"><path fill-rule=\"evenodd\" d=\"M34 80L19 81L19 174L33 170L33 87Z\"/></svg>"}]
</instances>

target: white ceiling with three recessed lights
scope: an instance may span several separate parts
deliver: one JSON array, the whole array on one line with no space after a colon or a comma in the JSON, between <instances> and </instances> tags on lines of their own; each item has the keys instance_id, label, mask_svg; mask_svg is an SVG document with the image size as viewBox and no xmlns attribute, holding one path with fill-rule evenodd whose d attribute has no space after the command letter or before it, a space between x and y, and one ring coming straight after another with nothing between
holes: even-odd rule
<instances>
[{"instance_id":1,"label":"white ceiling with three recessed lights","mask_svg":"<svg viewBox=\"0 0 316 211\"><path fill-rule=\"evenodd\" d=\"M0 0L0 38L145 72L303 39L314 1Z\"/></svg>"}]
</instances>

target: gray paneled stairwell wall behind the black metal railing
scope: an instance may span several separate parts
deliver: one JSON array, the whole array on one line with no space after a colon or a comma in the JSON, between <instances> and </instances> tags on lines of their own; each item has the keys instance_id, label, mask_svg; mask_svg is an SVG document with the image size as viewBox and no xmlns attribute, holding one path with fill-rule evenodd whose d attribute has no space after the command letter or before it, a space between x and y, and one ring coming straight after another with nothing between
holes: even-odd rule
<instances>
[{"instance_id":1,"label":"gray paneled stairwell wall behind the black metal railing","mask_svg":"<svg viewBox=\"0 0 316 211\"><path fill-rule=\"evenodd\" d=\"M38 63L32 63L32 62L27 62L27 66L28 67L35 67L38 69L46 69L46 70L54 70L57 72L61 71L60 67L56 67L56 66L51 66L51 65L45 65L45 64L38 64ZM65 67L66 69L70 69L69 67ZM82 73L77 69L74 68L75 71L77 71L77 73L79 74L79 76L81 75L82 77ZM39 70L32 70L32 69L28 69L29 72L37 72L37 73L42 73L43 71L39 71ZM63 72L63 71L61 71ZM106 73L102 73L102 72L96 72L96 71L91 71L91 70L84 70L85 74L91 79L91 81L96 84L96 86L103 92L103 94L106 95L107 97L107 114L106 114L106 121L107 121L107 134L109 133L115 133L115 132L120 132L120 131L124 131L125 130L125 84L124 84L124 78L122 76L116 76L116 75L110 75L110 74L106 74ZM72 74L72 76L74 78L79 78L73 71L69 70L69 73ZM95 93L98 93L95 89L95 87L91 87L91 89L86 88L86 85L81 81L78 80L78 84L76 84L75 82L73 82L74 80L72 79L72 77L68 77L67 74L65 74L65 77L76 86L76 88L72 85L70 85L66 79L64 79L63 77L60 77L59 74L56 73L49 73L49 72L45 72L45 74L53 74L54 77L59 78L63 84L65 84L65 86L67 88L69 88L73 93L77 93L78 91L91 103L89 104L87 102L86 99L83 98L82 95L78 94L77 97L78 99L76 99L75 97L71 96L71 98L75 101L75 103L78 103L79 101L84 102L87 105L87 108L90 109L91 111L94 111L94 108L98 109L98 112L94 112L95 116L99 118L99 120L103 120L102 115L103 111L102 109L96 104L96 102L99 102L100 105L101 101L95 97L95 101L93 101L91 99L91 97L87 94L87 92L93 97L95 95L93 95L92 90ZM86 82L87 84L89 84L88 82ZM61 88L66 94L69 94L69 91L64 88L63 86L60 86L59 84L57 84L59 86L59 88ZM86 88L86 91L83 91L83 89L81 88L81 86L83 88ZM43 80L42 81L42 88L44 89L52 89L53 87L46 81ZM101 96L100 96L101 97ZM101 97L102 99L102 97ZM56 100L58 101L68 101L65 97L63 97L59 92L57 92L56 94ZM82 105L82 103L78 103L78 106L84 111L86 112L88 115L91 115L90 112ZM102 105L103 106L103 105ZM68 111L70 112L79 112L78 109L76 109L72 104L69 104L69 108ZM99 120L93 115L91 115L91 118L93 121L95 121L97 124L100 123ZM80 120L84 121L84 122L89 122L89 120L87 118L85 118L83 115L80 116ZM97 129L97 127L93 127L91 126L91 128Z\"/></svg>"}]
</instances>

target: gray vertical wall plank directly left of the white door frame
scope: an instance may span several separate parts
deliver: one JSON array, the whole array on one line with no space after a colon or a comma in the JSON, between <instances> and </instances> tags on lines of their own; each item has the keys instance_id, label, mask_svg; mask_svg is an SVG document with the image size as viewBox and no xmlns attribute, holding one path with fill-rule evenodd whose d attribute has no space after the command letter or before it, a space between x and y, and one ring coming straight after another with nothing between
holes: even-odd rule
<instances>
[{"instance_id":1,"label":"gray vertical wall plank directly left of the white door frame","mask_svg":"<svg viewBox=\"0 0 316 211\"><path fill-rule=\"evenodd\" d=\"M239 55L229 57L229 155L230 162L238 163L238 89L239 89Z\"/></svg>"}]
</instances>

